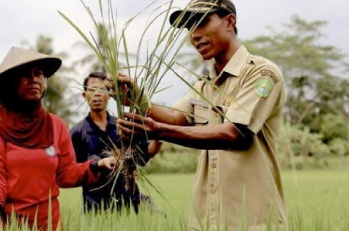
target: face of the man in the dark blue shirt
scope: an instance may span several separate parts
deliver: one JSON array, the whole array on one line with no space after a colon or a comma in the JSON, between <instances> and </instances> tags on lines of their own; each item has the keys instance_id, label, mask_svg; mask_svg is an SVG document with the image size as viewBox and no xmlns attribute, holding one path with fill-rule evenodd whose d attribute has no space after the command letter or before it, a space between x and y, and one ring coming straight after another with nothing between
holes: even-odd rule
<instances>
[{"instance_id":1,"label":"face of the man in the dark blue shirt","mask_svg":"<svg viewBox=\"0 0 349 231\"><path fill-rule=\"evenodd\" d=\"M104 81L99 78L89 78L87 81L87 89L83 92L83 97L88 102L91 111L100 112L106 110L109 100L109 93Z\"/></svg>"}]
</instances>

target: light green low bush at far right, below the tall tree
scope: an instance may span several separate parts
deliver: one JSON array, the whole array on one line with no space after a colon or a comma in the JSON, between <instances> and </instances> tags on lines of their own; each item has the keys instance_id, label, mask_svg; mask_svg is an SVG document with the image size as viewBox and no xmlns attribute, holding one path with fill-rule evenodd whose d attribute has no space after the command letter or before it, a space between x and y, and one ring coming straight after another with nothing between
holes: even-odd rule
<instances>
[{"instance_id":1,"label":"light green low bush at far right, below the tall tree","mask_svg":"<svg viewBox=\"0 0 349 231\"><path fill-rule=\"evenodd\" d=\"M331 117L332 118L332 117ZM328 117L326 120L329 120ZM329 124L337 124L336 121ZM338 125L338 124L337 124ZM328 127L330 129L330 127ZM335 129L335 128L332 128ZM331 137L345 134L342 128L340 133L328 131ZM342 138L331 139L324 143L323 134L310 132L307 126L285 124L281 129L278 155L281 166L284 168L321 168L330 165L347 163L344 156L349 154L349 142Z\"/></svg>"}]
</instances>

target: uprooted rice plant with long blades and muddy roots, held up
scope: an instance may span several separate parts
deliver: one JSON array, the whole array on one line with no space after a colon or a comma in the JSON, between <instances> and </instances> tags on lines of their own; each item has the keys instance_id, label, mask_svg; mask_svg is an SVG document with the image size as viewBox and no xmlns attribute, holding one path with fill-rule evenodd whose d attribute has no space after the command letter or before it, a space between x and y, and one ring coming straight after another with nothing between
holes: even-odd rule
<instances>
[{"instance_id":1,"label":"uprooted rice plant with long blades and muddy roots, held up","mask_svg":"<svg viewBox=\"0 0 349 231\"><path fill-rule=\"evenodd\" d=\"M166 88L159 89L160 82L166 76L169 71L172 71L177 77L180 77L190 88L194 89L191 84L186 81L181 75L174 71L172 67L176 62L175 56L179 53L180 49L185 45L190 32L195 27L189 30L189 33L183 35L184 29L176 29L170 27L167 22L170 11L173 9L173 0L163 3L160 6L155 6L155 2L148 5L144 10L151 7L152 15L145 24L145 29L140 37L137 46L136 60L134 64L131 64L129 57L127 29L132 21L142 14L143 11L137 13L131 17L122 27L119 32L118 20L116 10L113 8L111 0L96 0L99 7L98 18L93 14L91 8L81 0L82 5L88 12L90 19L97 29L101 38L101 43L98 43L95 37L90 32L90 36L84 33L68 16L64 13L59 14L75 28L75 30L81 35L84 41L95 52L99 61L103 64L105 70L110 77L105 84L111 84L112 95L116 102L117 115L119 118L123 117L123 113L128 110L131 113L137 113L140 115L147 115L147 110L151 106L151 98L154 94L166 90ZM183 12L184 15L185 11ZM194 16L194 15L193 15ZM204 17L205 15L203 15ZM202 18L203 18L202 17ZM180 19L180 17L179 17ZM143 52L144 39L147 33L150 31L151 26L161 20L161 27L157 34L154 47L149 47L147 44L146 58L142 61L141 53ZM201 19L202 20L202 19ZM103 25L103 26L101 26ZM134 40L134 39L133 39ZM123 54L126 65L120 65L120 54ZM120 75L127 74L133 79L130 86L125 89L124 84L119 82ZM96 89L100 90L100 89ZM210 103L212 104L212 103ZM217 108L217 111L220 110ZM222 114L222 112L220 112ZM222 114L224 116L224 114ZM147 134L145 133L147 137ZM141 184L150 185L152 188L156 188L158 193L160 189L154 185L145 174L145 171L141 169L137 163L142 162L143 159L140 155L142 150L131 137L130 141L121 141L121 148L116 148L111 151L117 159L115 170L111 179L116 182L120 172L125 178L125 189L130 192L131 195L135 190L135 172L139 178ZM145 187L147 188L147 187ZM147 189L146 189L147 190Z\"/></svg>"}]
</instances>

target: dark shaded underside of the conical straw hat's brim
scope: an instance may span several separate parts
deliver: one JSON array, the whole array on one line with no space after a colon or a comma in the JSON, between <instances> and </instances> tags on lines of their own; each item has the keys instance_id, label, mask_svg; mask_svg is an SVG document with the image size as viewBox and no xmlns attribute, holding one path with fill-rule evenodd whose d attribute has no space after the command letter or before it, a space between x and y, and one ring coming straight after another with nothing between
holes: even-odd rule
<instances>
[{"instance_id":1,"label":"dark shaded underside of the conical straw hat's brim","mask_svg":"<svg viewBox=\"0 0 349 231\"><path fill-rule=\"evenodd\" d=\"M19 69L27 66L37 66L44 72L46 78L51 77L62 65L62 60L55 57L47 57L42 59L32 60L30 62L21 63L17 66L14 66L2 73L0 73L0 79L5 77L11 77Z\"/></svg>"}]
</instances>

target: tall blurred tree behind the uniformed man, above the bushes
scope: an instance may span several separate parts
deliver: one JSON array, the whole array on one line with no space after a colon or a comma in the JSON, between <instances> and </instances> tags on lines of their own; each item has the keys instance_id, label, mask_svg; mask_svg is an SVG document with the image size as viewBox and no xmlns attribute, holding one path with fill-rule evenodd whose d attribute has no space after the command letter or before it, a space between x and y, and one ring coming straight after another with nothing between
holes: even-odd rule
<instances>
[{"instance_id":1,"label":"tall blurred tree behind the uniformed man, above the bushes","mask_svg":"<svg viewBox=\"0 0 349 231\"><path fill-rule=\"evenodd\" d=\"M331 45L323 45L321 32L325 21L308 22L293 16L284 29L245 41L253 54L267 57L284 73L288 90L286 119L320 131L320 117L327 113L349 117L348 79L344 54Z\"/></svg>"}]
</instances>

